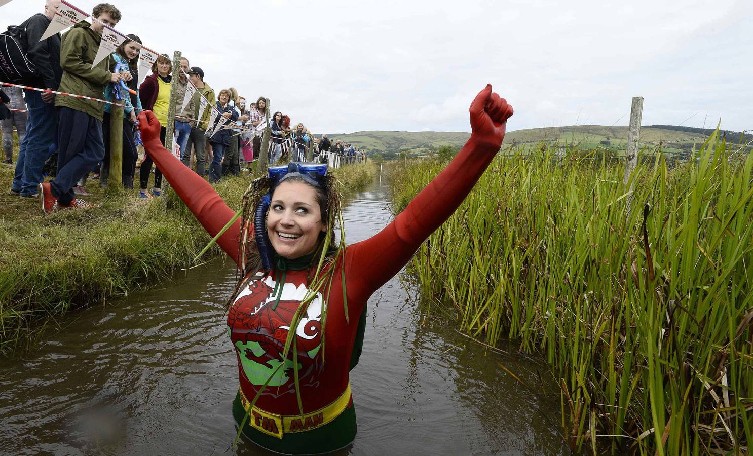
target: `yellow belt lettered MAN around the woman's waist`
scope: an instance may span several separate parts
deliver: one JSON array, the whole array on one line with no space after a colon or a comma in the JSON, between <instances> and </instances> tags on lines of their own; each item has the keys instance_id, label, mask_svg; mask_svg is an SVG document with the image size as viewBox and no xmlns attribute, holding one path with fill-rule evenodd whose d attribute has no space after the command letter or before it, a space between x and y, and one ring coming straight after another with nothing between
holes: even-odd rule
<instances>
[{"instance_id":1,"label":"yellow belt lettered MAN around the woman's waist","mask_svg":"<svg viewBox=\"0 0 753 456\"><path fill-rule=\"evenodd\" d=\"M322 427L340 416L340 413L350 403L350 382L348 382L348 387L345 388L343 394L340 394L340 397L333 403L316 410L316 412L304 413L303 415L277 415L257 406L249 410L251 401L245 397L240 388L238 391L240 392L240 402L243 409L248 412L248 423L255 429L270 436L276 436L278 439L282 439L282 434L286 432L303 432L304 430Z\"/></svg>"}]
</instances>

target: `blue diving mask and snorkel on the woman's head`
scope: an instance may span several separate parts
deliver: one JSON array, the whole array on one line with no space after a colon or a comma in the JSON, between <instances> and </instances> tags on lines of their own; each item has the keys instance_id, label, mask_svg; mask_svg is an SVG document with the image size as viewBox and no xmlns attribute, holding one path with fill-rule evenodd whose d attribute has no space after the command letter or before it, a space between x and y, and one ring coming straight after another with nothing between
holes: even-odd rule
<instances>
[{"instance_id":1,"label":"blue diving mask and snorkel on the woman's head","mask_svg":"<svg viewBox=\"0 0 753 456\"><path fill-rule=\"evenodd\" d=\"M270 193L261 197L259 205L254 213L254 235L256 245L261 256L261 267L265 271L272 270L274 266L273 251L270 243L270 237L267 236L267 211L270 209L272 193L275 188L288 178L300 178L317 188L325 187L325 177L327 176L326 163L288 163L287 165L270 166L267 169L267 176L272 180L270 184Z\"/></svg>"}]
</instances>

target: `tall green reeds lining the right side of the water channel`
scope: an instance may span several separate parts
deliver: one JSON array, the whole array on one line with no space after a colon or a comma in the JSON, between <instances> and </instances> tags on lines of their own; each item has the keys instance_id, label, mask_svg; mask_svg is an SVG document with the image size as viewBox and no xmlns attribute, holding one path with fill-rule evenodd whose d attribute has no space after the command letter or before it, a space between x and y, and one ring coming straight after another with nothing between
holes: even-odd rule
<instances>
[{"instance_id":1,"label":"tall green reeds lining the right side of the water channel","mask_svg":"<svg viewBox=\"0 0 753 456\"><path fill-rule=\"evenodd\" d=\"M698 163L640 166L631 201L621 164L553 152L498 157L425 242L428 305L546 357L577 450L746 454L753 157L713 136ZM443 166L396 165L395 208Z\"/></svg>"}]
</instances>

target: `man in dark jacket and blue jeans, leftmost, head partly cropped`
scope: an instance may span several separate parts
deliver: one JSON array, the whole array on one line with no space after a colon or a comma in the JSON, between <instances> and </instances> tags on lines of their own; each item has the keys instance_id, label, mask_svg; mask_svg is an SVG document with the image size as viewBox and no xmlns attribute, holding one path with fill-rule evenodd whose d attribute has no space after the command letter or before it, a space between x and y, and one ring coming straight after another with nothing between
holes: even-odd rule
<instances>
[{"instance_id":1,"label":"man in dark jacket and blue jeans, leftmost, head partly cropped","mask_svg":"<svg viewBox=\"0 0 753 456\"><path fill-rule=\"evenodd\" d=\"M44 13L35 14L21 24L21 28L26 29L26 49L29 52L29 60L39 71L37 76L29 81L23 81L27 86L57 90L60 84L62 78L60 34L39 41L55 17L59 5L60 0L47 0ZM38 184L43 181L44 161L47 160L50 146L55 142L57 112L54 105L55 96L52 93L41 93L35 90L24 90L24 93L26 93L29 117L26 120L26 136L18 151L11 193L25 198L34 198L37 196Z\"/></svg>"}]
</instances>

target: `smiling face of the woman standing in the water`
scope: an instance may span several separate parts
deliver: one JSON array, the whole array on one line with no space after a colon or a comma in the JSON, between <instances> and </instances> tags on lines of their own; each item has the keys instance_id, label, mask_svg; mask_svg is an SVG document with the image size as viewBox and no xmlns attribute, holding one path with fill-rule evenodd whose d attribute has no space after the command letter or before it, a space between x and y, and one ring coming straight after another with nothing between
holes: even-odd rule
<instances>
[{"instance_id":1,"label":"smiling face of the woman standing in the water","mask_svg":"<svg viewBox=\"0 0 753 456\"><path fill-rule=\"evenodd\" d=\"M267 236L277 254L298 258L310 254L326 232L316 190L300 181L283 181L275 189L267 214Z\"/></svg>"}]
</instances>

